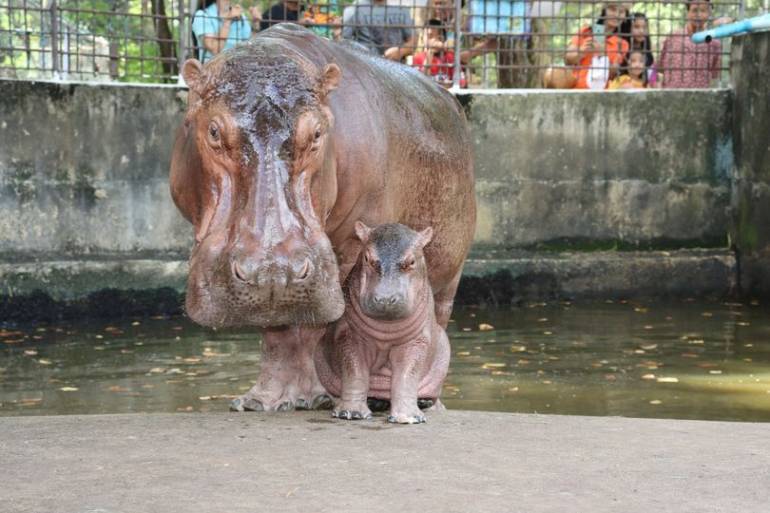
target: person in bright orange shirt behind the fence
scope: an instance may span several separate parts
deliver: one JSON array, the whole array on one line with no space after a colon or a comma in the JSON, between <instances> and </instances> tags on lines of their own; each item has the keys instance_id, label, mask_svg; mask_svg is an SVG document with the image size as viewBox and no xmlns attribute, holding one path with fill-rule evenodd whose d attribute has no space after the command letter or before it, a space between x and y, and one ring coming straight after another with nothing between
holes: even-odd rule
<instances>
[{"instance_id":1,"label":"person in bright orange shirt behind the fence","mask_svg":"<svg viewBox=\"0 0 770 513\"><path fill-rule=\"evenodd\" d=\"M607 81L617 75L620 64L628 53L628 42L618 34L624 13L625 9L621 3L606 3L596 24L583 27L572 38L564 55L564 63L569 67L546 70L543 77L545 87L589 89L590 82L594 88L606 87ZM603 33L595 34L600 28ZM599 69L599 66L606 66L607 69Z\"/></svg>"}]
</instances>

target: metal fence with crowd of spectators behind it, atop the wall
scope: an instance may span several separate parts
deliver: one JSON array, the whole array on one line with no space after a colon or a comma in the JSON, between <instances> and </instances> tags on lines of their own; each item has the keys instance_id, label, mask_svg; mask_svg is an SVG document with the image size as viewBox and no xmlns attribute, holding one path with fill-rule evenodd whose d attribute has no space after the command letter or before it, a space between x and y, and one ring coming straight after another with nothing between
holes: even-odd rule
<instances>
[{"instance_id":1,"label":"metal fence with crowd of spectators behind it, atop the wall","mask_svg":"<svg viewBox=\"0 0 770 513\"><path fill-rule=\"evenodd\" d=\"M682 30L768 7L767 0L238 2L0 0L0 77L176 82L185 59L210 59L292 21L446 87L708 87L726 80L729 40L695 46Z\"/></svg>"}]
</instances>

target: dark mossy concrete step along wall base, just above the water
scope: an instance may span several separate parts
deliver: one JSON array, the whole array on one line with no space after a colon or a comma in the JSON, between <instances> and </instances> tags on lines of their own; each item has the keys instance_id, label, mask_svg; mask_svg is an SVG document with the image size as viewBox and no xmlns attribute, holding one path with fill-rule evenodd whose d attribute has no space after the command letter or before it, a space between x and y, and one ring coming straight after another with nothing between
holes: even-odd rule
<instances>
[{"instance_id":1,"label":"dark mossy concrete step along wall base, just above the water","mask_svg":"<svg viewBox=\"0 0 770 513\"><path fill-rule=\"evenodd\" d=\"M0 261L0 321L182 312L187 262L173 258ZM737 281L728 250L476 250L457 304L613 297L724 297Z\"/></svg>"}]
</instances>

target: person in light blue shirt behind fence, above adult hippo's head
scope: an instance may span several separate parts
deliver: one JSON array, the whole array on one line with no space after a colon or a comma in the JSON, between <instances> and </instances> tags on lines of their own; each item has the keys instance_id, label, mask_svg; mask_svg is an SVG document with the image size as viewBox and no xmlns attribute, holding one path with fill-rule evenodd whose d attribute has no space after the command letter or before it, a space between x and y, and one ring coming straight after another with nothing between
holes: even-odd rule
<instances>
[{"instance_id":1,"label":"person in light blue shirt behind fence, above adult hippo's head","mask_svg":"<svg viewBox=\"0 0 770 513\"><path fill-rule=\"evenodd\" d=\"M192 32L198 59L206 62L222 50L247 41L251 26L240 5L232 5L230 0L205 0L193 16Z\"/></svg>"}]
</instances>

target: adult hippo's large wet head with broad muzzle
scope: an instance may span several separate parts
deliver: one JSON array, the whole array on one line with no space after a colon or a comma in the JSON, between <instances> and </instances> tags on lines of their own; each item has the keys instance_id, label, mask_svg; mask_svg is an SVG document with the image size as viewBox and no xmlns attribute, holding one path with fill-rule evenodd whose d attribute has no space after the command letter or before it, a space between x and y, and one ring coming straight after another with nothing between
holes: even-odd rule
<instances>
[{"instance_id":1,"label":"adult hippo's large wet head with broad muzzle","mask_svg":"<svg viewBox=\"0 0 770 513\"><path fill-rule=\"evenodd\" d=\"M186 309L207 326L317 325L344 311L325 222L337 196L319 69L276 38L184 64L171 193L194 225Z\"/></svg>"}]
</instances>

